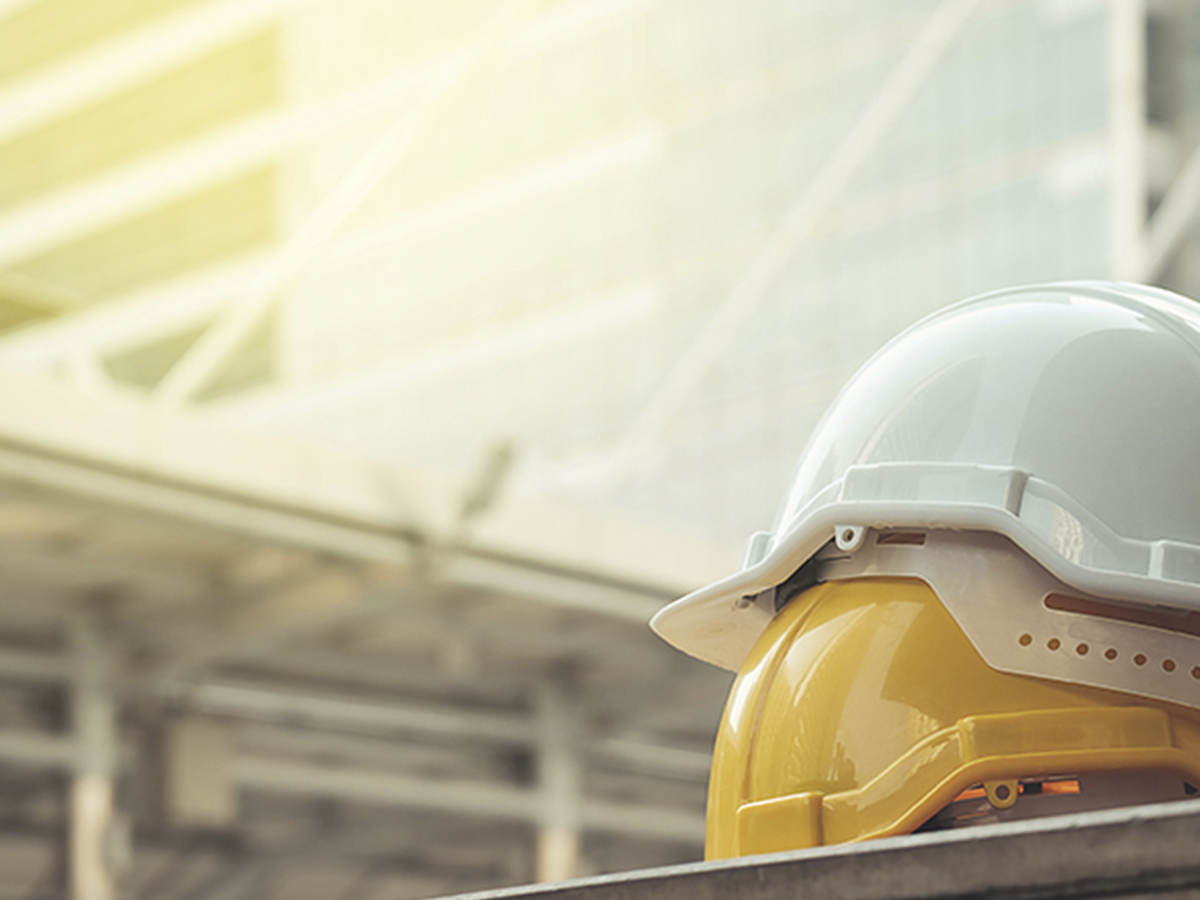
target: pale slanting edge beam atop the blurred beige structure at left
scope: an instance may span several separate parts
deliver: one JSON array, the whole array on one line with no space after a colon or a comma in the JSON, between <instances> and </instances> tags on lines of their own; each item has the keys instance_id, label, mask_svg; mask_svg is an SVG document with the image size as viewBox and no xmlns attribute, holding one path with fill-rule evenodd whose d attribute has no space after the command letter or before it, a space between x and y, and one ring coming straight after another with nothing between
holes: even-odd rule
<instances>
[{"instance_id":1,"label":"pale slanting edge beam atop the blurred beige structure at left","mask_svg":"<svg viewBox=\"0 0 1200 900\"><path fill-rule=\"evenodd\" d=\"M448 557L439 584L638 623L680 593L672 583L727 562L720 547L532 498L446 545L461 497L436 478L118 400L8 376L0 480L347 560L407 565L433 546Z\"/></svg>"}]
</instances>

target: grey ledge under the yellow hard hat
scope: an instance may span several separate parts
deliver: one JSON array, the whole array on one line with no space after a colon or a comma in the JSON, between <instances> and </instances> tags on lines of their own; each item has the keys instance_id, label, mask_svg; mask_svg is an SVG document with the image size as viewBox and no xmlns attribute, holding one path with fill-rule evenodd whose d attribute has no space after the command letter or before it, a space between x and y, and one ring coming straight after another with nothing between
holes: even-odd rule
<instances>
[{"instance_id":1,"label":"grey ledge under the yellow hard hat","mask_svg":"<svg viewBox=\"0 0 1200 900\"><path fill-rule=\"evenodd\" d=\"M464 894L473 900L1200 896L1200 800Z\"/></svg>"}]
</instances>

